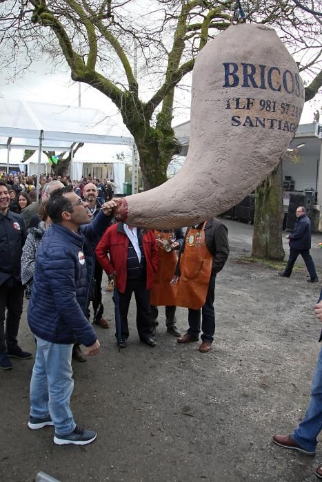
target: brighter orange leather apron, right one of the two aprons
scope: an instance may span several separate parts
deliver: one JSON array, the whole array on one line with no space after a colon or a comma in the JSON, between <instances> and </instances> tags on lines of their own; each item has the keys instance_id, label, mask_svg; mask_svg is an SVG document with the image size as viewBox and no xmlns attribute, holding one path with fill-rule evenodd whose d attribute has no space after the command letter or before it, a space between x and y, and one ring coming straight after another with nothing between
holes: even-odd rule
<instances>
[{"instance_id":1,"label":"brighter orange leather apron, right one of the two aprons","mask_svg":"<svg viewBox=\"0 0 322 482\"><path fill-rule=\"evenodd\" d=\"M180 259L176 305L193 310L205 304L212 270L212 255L205 244L206 222L201 229L189 229Z\"/></svg>"}]
</instances>

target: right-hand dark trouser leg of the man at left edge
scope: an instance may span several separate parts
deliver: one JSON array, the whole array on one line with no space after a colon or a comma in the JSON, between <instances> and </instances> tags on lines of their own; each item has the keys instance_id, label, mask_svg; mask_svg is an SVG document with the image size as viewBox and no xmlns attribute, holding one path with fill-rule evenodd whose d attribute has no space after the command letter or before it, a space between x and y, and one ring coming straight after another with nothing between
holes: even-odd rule
<instances>
[{"instance_id":1,"label":"right-hand dark trouser leg of the man at left edge","mask_svg":"<svg viewBox=\"0 0 322 482\"><path fill-rule=\"evenodd\" d=\"M8 289L7 295L7 319L6 319L6 342L8 351L17 347L17 336L20 318L23 308L23 286L17 284Z\"/></svg>"}]
</instances>

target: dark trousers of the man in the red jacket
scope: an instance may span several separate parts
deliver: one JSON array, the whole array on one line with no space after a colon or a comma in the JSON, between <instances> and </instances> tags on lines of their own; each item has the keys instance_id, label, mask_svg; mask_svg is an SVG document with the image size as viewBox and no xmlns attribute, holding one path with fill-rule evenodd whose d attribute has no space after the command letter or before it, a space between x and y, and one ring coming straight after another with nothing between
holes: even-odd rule
<instances>
[{"instance_id":1,"label":"dark trousers of the man in the red jacket","mask_svg":"<svg viewBox=\"0 0 322 482\"><path fill-rule=\"evenodd\" d=\"M137 303L137 331L139 337L150 338L152 331L150 329L150 290L146 289L146 280L144 278L136 278L128 280L125 286L125 292L119 292L119 308L121 315L121 337L128 338L128 308L132 298L135 296Z\"/></svg>"}]
</instances>

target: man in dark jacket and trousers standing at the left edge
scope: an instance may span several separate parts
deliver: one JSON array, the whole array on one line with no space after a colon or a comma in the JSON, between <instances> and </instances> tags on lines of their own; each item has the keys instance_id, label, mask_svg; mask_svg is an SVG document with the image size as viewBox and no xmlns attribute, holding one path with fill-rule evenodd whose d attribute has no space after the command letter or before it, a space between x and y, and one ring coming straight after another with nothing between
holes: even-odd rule
<instances>
[{"instance_id":1,"label":"man in dark jacket and trousers standing at the left edge","mask_svg":"<svg viewBox=\"0 0 322 482\"><path fill-rule=\"evenodd\" d=\"M20 260L26 227L23 218L9 210L9 203L7 186L0 180L0 368L3 370L12 368L9 357L32 357L17 342L23 307Z\"/></svg>"}]
</instances>

